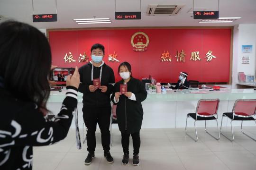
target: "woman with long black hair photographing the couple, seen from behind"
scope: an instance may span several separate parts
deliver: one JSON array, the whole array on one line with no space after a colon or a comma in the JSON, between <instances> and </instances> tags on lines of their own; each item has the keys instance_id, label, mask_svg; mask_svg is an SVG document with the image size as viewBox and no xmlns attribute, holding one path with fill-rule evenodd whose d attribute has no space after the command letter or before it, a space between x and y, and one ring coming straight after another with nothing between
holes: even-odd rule
<instances>
[{"instance_id":1,"label":"woman with long black hair photographing the couple, seen from behind","mask_svg":"<svg viewBox=\"0 0 256 170\"><path fill-rule=\"evenodd\" d=\"M80 76L77 67L67 76L60 112L54 121L46 120L51 60L49 42L37 28L16 21L0 24L0 170L32 170L33 146L67 136Z\"/></svg>"}]
</instances>

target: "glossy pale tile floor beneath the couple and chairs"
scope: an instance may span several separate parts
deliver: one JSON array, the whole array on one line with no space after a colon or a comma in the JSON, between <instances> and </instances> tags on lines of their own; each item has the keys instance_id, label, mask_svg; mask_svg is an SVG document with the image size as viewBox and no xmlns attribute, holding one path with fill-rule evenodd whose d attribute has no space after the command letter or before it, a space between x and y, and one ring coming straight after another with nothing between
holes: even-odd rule
<instances>
[{"instance_id":1,"label":"glossy pale tile floor beneath the couple and chairs","mask_svg":"<svg viewBox=\"0 0 256 170\"><path fill-rule=\"evenodd\" d=\"M190 134L192 130L188 129ZM209 128L213 135L217 135L214 130ZM223 129L224 132L229 130L228 127ZM256 127L244 127L244 131L256 137ZM130 158L125 166L121 163L123 153L118 129L113 129L110 149L114 163L106 162L97 130L95 158L91 165L83 163L87 156L86 143L82 150L77 150L75 132L71 129L57 144L34 147L33 170L256 170L256 142L244 136L239 127L235 127L234 132L234 142L224 136L217 141L206 134L204 128L198 128L199 140L194 142L185 136L184 128L142 129L140 165L133 166ZM131 140L129 150L132 153Z\"/></svg>"}]
</instances>

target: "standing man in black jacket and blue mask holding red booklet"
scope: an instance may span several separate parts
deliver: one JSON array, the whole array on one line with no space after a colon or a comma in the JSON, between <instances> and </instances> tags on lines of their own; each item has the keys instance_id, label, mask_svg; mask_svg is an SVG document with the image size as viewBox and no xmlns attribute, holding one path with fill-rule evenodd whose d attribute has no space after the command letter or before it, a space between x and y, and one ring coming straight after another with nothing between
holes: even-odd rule
<instances>
[{"instance_id":1,"label":"standing man in black jacket and blue mask holding red booklet","mask_svg":"<svg viewBox=\"0 0 256 170\"><path fill-rule=\"evenodd\" d=\"M95 131L97 123L101 129L101 144L104 156L109 163L113 163L110 155L110 94L115 83L113 69L102 60L104 46L94 44L91 47L91 59L89 63L79 68L80 85L79 92L83 93L83 120L87 127L87 151L88 156L85 165L91 164L96 147ZM100 84L97 86L96 84Z\"/></svg>"}]
</instances>

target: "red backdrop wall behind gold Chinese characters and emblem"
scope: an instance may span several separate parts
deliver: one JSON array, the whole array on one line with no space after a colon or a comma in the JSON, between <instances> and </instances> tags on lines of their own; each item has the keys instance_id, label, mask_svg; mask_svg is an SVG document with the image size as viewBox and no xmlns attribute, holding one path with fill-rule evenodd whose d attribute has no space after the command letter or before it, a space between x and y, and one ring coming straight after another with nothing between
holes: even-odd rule
<instances>
[{"instance_id":1,"label":"red backdrop wall behind gold Chinese characters and emblem","mask_svg":"<svg viewBox=\"0 0 256 170\"><path fill-rule=\"evenodd\" d=\"M131 36L142 31L149 37L147 51L135 52L131 45ZM128 61L132 74L136 78L153 76L157 82L176 82L181 71L189 74L188 79L200 82L229 82L230 29L125 29L125 30L74 30L49 31L52 49L52 61L58 67L81 67L78 57L84 51L91 60L90 49L94 43L105 46L103 60L115 72L118 66ZM184 50L185 62L177 62L176 51ZM204 58L211 50L217 58L210 62ZM120 62L108 62L109 54L118 54ZM169 51L171 62L162 62L161 54ZM191 52L199 51L202 60L190 60ZM64 56L72 52L76 62L65 63ZM104 74L104 73L103 73Z\"/></svg>"}]
</instances>

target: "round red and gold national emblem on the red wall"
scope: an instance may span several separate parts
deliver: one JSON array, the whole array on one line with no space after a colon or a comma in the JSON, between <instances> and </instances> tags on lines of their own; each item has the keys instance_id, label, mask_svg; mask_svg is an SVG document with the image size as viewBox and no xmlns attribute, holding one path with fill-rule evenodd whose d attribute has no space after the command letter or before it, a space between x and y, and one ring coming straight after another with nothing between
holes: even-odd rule
<instances>
[{"instance_id":1,"label":"round red and gold national emblem on the red wall","mask_svg":"<svg viewBox=\"0 0 256 170\"><path fill-rule=\"evenodd\" d=\"M148 36L143 32L137 32L131 37L131 44L133 51L142 52L146 51L146 47L149 43Z\"/></svg>"}]
</instances>

